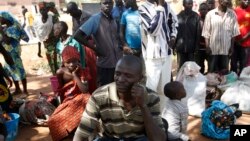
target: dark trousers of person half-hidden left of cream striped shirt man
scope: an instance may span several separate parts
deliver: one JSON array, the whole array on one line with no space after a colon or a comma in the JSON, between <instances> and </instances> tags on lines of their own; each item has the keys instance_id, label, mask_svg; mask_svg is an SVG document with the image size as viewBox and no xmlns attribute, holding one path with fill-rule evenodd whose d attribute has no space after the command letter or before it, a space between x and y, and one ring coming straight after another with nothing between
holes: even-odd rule
<instances>
[{"instance_id":1,"label":"dark trousers of person half-hidden left of cream striped shirt man","mask_svg":"<svg viewBox=\"0 0 250 141\"><path fill-rule=\"evenodd\" d=\"M205 60L208 61L208 55L206 53L206 50L199 50L195 54L195 61L201 67L200 72L203 74L205 73Z\"/></svg>"}]
</instances>

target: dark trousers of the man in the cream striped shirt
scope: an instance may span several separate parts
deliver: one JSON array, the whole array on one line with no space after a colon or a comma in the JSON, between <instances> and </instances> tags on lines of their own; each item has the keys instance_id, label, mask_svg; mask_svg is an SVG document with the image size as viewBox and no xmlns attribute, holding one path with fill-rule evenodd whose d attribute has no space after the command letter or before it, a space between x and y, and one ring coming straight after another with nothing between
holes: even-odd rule
<instances>
[{"instance_id":1,"label":"dark trousers of the man in the cream striped shirt","mask_svg":"<svg viewBox=\"0 0 250 141\"><path fill-rule=\"evenodd\" d=\"M210 55L208 65L208 72L228 70L229 57L228 55Z\"/></svg>"}]
</instances>

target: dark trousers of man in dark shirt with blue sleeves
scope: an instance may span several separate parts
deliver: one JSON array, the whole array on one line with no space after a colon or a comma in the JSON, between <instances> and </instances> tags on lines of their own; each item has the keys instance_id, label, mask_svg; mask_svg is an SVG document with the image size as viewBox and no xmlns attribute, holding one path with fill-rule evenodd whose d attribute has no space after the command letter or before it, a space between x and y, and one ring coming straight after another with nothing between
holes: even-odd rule
<instances>
[{"instance_id":1,"label":"dark trousers of man in dark shirt with blue sleeves","mask_svg":"<svg viewBox=\"0 0 250 141\"><path fill-rule=\"evenodd\" d=\"M98 87L114 82L115 68L97 67L97 85Z\"/></svg>"}]
</instances>

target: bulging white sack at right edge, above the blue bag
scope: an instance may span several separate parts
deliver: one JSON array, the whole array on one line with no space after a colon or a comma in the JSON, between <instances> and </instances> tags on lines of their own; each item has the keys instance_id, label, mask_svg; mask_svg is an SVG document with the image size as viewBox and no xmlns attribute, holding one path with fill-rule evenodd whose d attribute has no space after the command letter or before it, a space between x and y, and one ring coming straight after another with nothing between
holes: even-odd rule
<instances>
[{"instance_id":1,"label":"bulging white sack at right edge, above the blue bag","mask_svg":"<svg viewBox=\"0 0 250 141\"><path fill-rule=\"evenodd\" d=\"M238 80L225 90L221 101L227 105L239 103L239 110L250 112L250 67L242 70Z\"/></svg>"}]
</instances>

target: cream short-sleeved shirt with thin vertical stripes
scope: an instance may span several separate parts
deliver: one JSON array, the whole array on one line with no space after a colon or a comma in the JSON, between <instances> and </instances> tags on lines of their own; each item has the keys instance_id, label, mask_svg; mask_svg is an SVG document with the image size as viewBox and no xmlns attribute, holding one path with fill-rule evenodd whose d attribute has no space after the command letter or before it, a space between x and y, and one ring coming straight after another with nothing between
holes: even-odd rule
<instances>
[{"instance_id":1,"label":"cream short-sleeved shirt with thin vertical stripes","mask_svg":"<svg viewBox=\"0 0 250 141\"><path fill-rule=\"evenodd\" d=\"M212 55L228 55L231 39L240 34L236 14L230 8L223 17L218 8L209 11L206 15L202 36L209 39Z\"/></svg>"}]
</instances>

